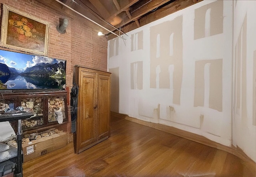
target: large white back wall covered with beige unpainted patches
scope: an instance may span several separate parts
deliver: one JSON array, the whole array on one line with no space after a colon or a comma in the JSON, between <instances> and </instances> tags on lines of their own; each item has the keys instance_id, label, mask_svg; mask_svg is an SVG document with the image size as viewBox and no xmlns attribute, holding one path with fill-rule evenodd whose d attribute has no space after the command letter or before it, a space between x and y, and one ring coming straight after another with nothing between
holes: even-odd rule
<instances>
[{"instance_id":1,"label":"large white back wall covered with beige unpainted patches","mask_svg":"<svg viewBox=\"0 0 256 177\"><path fill-rule=\"evenodd\" d=\"M114 90L119 94L119 113L199 134L226 146L233 141L256 161L255 152L246 151L255 150L255 143L242 142L246 134L255 140L255 126L240 126L236 118L232 126L232 10L233 1L202 1L128 32L125 41L118 37L108 41L108 69L119 78L119 88ZM247 22L255 16L248 15ZM235 19L240 29L243 18ZM234 30L234 36L238 32ZM253 66L252 59L250 63ZM247 97L252 94L250 84ZM252 105L252 100L248 101ZM240 138L234 138L237 134Z\"/></svg>"}]
</instances>

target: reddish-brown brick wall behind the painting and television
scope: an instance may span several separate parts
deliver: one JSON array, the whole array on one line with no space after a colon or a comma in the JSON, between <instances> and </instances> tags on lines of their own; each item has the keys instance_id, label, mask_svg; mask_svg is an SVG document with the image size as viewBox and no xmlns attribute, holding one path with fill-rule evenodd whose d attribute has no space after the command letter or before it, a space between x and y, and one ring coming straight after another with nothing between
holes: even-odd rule
<instances>
[{"instance_id":1,"label":"reddish-brown brick wall behind the painting and television","mask_svg":"<svg viewBox=\"0 0 256 177\"><path fill-rule=\"evenodd\" d=\"M36 0L1 0L0 3L50 22L48 57L66 60L66 87L69 90L74 65L107 70L107 37L99 37L98 31L91 27L92 22L71 11L58 12ZM64 34L56 30L60 18L68 18ZM70 124L67 128L70 131Z\"/></svg>"}]
</instances>

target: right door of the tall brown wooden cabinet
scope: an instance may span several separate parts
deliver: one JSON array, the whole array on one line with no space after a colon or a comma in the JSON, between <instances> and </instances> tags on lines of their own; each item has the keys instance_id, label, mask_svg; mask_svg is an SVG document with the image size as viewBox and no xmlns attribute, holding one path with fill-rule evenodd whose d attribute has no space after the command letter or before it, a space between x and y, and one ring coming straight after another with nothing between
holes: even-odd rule
<instances>
[{"instance_id":1,"label":"right door of the tall brown wooden cabinet","mask_svg":"<svg viewBox=\"0 0 256 177\"><path fill-rule=\"evenodd\" d=\"M110 73L98 75L98 140L110 136Z\"/></svg>"}]
</instances>

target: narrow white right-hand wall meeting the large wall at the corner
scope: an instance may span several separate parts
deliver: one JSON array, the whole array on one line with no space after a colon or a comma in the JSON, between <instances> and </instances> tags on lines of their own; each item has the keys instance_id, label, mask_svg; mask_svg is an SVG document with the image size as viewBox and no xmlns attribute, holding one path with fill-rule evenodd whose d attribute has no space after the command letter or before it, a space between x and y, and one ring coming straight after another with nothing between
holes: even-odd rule
<instances>
[{"instance_id":1,"label":"narrow white right-hand wall meeting the large wall at the corner","mask_svg":"<svg viewBox=\"0 0 256 177\"><path fill-rule=\"evenodd\" d=\"M256 1L234 1L232 144L256 161Z\"/></svg>"}]
</instances>

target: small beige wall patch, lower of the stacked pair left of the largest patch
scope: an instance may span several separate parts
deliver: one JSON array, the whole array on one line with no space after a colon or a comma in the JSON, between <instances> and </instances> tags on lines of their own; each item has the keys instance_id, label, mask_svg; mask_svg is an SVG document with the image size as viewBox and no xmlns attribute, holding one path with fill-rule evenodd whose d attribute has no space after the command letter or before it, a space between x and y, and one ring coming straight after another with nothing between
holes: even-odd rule
<instances>
[{"instance_id":1,"label":"small beige wall patch, lower of the stacked pair left of the largest patch","mask_svg":"<svg viewBox=\"0 0 256 177\"><path fill-rule=\"evenodd\" d=\"M131 63L131 89L142 90L143 88L143 62Z\"/></svg>"}]
</instances>

